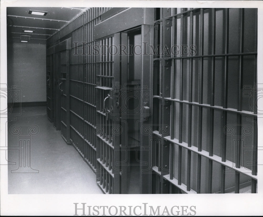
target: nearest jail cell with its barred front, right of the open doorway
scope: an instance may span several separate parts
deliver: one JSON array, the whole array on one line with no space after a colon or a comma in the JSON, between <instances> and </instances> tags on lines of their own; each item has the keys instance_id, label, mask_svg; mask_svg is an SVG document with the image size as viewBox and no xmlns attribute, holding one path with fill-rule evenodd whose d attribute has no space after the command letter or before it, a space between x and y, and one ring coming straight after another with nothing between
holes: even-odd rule
<instances>
[{"instance_id":1,"label":"nearest jail cell with its barred front, right of the open doorway","mask_svg":"<svg viewBox=\"0 0 263 217\"><path fill-rule=\"evenodd\" d=\"M154 120L170 125L170 136L164 137L170 143L170 172L163 175L170 188L239 193L249 184L256 193L256 164L246 163L256 159L256 114L241 95L245 86L250 91L256 83L256 34L247 34L256 32L256 23L248 24L256 14L247 8L156 9L154 35L161 50L196 46L154 57L154 115L159 116ZM165 109L170 116L162 116ZM235 142L223 130L228 124ZM254 147L251 151L241 147L246 125L251 133L245 146Z\"/></svg>"}]
</instances>

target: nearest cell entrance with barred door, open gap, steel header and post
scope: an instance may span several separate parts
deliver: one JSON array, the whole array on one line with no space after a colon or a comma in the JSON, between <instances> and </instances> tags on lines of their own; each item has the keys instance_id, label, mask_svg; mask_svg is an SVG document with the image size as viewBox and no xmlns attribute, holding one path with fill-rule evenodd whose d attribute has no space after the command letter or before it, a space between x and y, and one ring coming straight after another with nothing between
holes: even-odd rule
<instances>
[{"instance_id":1,"label":"nearest cell entrance with barred door, open gap, steel header and post","mask_svg":"<svg viewBox=\"0 0 263 217\"><path fill-rule=\"evenodd\" d=\"M152 129L153 55L138 53L143 42L153 45L153 12L129 8L95 26L97 182L105 193L151 193L150 140L141 130Z\"/></svg>"}]
</instances>

